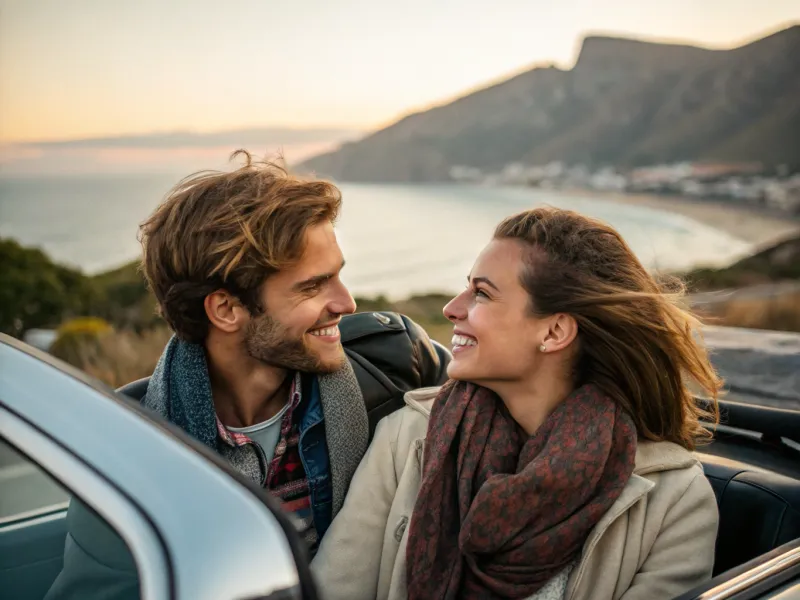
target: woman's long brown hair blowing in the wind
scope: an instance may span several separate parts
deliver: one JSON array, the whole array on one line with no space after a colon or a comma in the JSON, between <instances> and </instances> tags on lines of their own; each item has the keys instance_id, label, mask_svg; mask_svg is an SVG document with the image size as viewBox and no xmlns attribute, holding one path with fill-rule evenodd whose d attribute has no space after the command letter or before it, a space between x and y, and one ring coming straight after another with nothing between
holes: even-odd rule
<instances>
[{"instance_id":1,"label":"woman's long brown hair blowing in the wind","mask_svg":"<svg viewBox=\"0 0 800 600\"><path fill-rule=\"evenodd\" d=\"M683 284L659 284L610 226L576 212L535 208L505 219L495 239L521 242L521 283L537 317L578 324L576 386L592 383L625 409L639 435L690 450L716 423L722 380L698 340L699 320L679 301ZM694 382L710 398L695 402Z\"/></svg>"}]
</instances>

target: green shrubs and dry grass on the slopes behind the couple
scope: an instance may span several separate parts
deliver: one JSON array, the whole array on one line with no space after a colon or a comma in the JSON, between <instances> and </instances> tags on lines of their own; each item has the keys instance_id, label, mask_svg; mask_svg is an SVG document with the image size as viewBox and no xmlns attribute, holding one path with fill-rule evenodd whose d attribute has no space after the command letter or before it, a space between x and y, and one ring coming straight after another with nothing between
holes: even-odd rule
<instances>
[{"instance_id":1,"label":"green shrubs and dry grass on the slopes behind the couple","mask_svg":"<svg viewBox=\"0 0 800 600\"><path fill-rule=\"evenodd\" d=\"M87 276L53 263L43 252L0 239L0 331L17 337L32 328L57 328L51 352L117 387L152 373L170 331L156 315L138 263ZM700 292L754 283L800 281L800 237L789 238L723 269L685 275ZM408 315L432 338L449 344L452 326L442 315L448 294L402 301L357 298L359 310ZM800 292L735 296L709 304L704 316L721 325L800 331Z\"/></svg>"}]
</instances>

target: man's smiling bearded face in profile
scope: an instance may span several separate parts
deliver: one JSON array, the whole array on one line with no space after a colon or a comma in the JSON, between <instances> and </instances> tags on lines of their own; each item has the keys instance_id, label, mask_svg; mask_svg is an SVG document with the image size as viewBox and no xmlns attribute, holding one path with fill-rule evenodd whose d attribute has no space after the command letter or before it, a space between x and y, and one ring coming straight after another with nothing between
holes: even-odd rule
<instances>
[{"instance_id":1,"label":"man's smiling bearded face in profile","mask_svg":"<svg viewBox=\"0 0 800 600\"><path fill-rule=\"evenodd\" d=\"M303 257L271 275L261 292L264 311L247 325L245 348L264 363L308 373L330 373L344 364L342 315L356 304L339 279L344 258L333 225L306 230Z\"/></svg>"}]
</instances>

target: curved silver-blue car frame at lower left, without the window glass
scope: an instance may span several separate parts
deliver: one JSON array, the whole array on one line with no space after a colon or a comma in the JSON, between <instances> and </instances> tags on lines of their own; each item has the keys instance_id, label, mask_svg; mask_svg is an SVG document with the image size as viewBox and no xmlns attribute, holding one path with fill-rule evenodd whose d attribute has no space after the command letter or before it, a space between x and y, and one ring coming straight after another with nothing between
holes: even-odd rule
<instances>
[{"instance_id":1,"label":"curved silver-blue car frame at lower left, without the window glass","mask_svg":"<svg viewBox=\"0 0 800 600\"><path fill-rule=\"evenodd\" d=\"M62 407L54 410L56 403ZM316 600L307 551L278 502L137 402L0 334L0 410L13 415L4 430L18 430L9 443L77 492L130 545L143 598ZM61 467L85 479L68 481ZM81 493L82 481L112 503ZM119 512L111 514L111 506ZM214 511L219 518L209 519ZM149 541L131 528L149 532Z\"/></svg>"}]
</instances>

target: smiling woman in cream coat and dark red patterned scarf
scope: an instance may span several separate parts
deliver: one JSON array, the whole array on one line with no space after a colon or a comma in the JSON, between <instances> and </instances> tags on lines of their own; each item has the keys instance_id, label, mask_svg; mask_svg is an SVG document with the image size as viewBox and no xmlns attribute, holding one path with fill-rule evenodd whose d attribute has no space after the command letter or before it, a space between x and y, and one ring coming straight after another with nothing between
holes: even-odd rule
<instances>
[{"instance_id":1,"label":"smiling woman in cream coat and dark red patterned scarf","mask_svg":"<svg viewBox=\"0 0 800 600\"><path fill-rule=\"evenodd\" d=\"M658 600L710 577L687 384L716 406L721 380L678 295L603 223L503 221L444 309L451 380L379 423L321 543L323 597Z\"/></svg>"}]
</instances>

